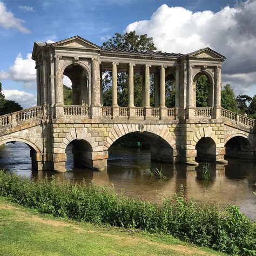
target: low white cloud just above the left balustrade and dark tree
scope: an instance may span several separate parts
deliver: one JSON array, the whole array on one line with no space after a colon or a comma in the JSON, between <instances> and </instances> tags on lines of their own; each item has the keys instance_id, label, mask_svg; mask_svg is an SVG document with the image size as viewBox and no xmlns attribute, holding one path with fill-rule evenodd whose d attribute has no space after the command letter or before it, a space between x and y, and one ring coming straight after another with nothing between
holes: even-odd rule
<instances>
[{"instance_id":1,"label":"low white cloud just above the left balustrade and dark tree","mask_svg":"<svg viewBox=\"0 0 256 256\"><path fill-rule=\"evenodd\" d=\"M32 93L19 90L3 90L3 93L5 99L15 100L24 109L37 105L37 97Z\"/></svg>"}]
</instances>

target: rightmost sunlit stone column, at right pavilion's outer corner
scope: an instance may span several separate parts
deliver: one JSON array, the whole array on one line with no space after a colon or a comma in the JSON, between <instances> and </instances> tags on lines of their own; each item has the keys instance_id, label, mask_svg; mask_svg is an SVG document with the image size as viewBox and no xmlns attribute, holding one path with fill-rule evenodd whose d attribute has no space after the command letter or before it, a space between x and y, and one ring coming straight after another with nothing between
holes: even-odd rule
<instances>
[{"instance_id":1,"label":"rightmost sunlit stone column, at right pavilion's outer corner","mask_svg":"<svg viewBox=\"0 0 256 256\"><path fill-rule=\"evenodd\" d=\"M215 67L214 117L221 118L221 66Z\"/></svg>"}]
</instances>

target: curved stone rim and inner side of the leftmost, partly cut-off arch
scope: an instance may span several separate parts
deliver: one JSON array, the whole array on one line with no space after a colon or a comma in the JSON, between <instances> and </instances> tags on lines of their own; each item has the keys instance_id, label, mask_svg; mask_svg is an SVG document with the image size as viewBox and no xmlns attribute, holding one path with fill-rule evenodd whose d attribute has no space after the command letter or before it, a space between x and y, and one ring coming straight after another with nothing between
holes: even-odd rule
<instances>
[{"instance_id":1,"label":"curved stone rim and inner side of the leftmost, partly cut-off arch","mask_svg":"<svg viewBox=\"0 0 256 256\"><path fill-rule=\"evenodd\" d=\"M42 153L41 150L32 142L22 138L3 139L0 146L8 142L22 142L30 148L31 165L33 170L42 170Z\"/></svg>"}]
</instances>

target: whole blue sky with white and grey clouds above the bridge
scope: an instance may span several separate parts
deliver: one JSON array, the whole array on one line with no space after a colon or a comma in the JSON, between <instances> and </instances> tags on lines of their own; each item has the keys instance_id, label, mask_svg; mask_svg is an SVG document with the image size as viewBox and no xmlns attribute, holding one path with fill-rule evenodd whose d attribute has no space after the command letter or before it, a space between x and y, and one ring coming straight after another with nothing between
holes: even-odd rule
<instances>
[{"instance_id":1,"label":"whole blue sky with white and grey clouds above the bridge","mask_svg":"<svg viewBox=\"0 0 256 256\"><path fill-rule=\"evenodd\" d=\"M0 0L0 82L6 99L36 105L35 41L79 35L99 46L136 30L158 50L226 56L222 84L256 95L256 0Z\"/></svg>"}]
</instances>

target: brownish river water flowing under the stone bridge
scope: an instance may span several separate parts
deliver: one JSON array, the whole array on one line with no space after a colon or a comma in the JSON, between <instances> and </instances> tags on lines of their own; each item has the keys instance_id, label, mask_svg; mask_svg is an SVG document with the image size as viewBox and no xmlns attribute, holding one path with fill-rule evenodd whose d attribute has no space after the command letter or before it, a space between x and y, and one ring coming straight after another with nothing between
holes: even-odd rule
<instances>
[{"instance_id":1,"label":"brownish river water flowing under the stone bridge","mask_svg":"<svg viewBox=\"0 0 256 256\"><path fill-rule=\"evenodd\" d=\"M221 207L229 204L240 206L251 219L256 218L256 161L228 159L228 165L211 165L212 181L201 179L202 165L188 167L151 163L150 152L140 149L113 148L109 152L107 169L104 172L90 169L73 168L71 149L67 150L69 170L66 173L50 171L32 171L29 147L24 143L6 144L0 151L0 168L11 173L18 173L24 177L40 179L46 174L56 176L60 182L75 180L88 183L92 180L96 184L114 187L129 197L138 197L154 203L160 203L163 198L172 197L184 187L186 198L194 198L210 203L218 203ZM165 180L154 179L149 176L149 170L163 166Z\"/></svg>"}]
</instances>

